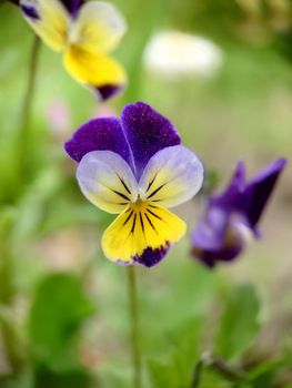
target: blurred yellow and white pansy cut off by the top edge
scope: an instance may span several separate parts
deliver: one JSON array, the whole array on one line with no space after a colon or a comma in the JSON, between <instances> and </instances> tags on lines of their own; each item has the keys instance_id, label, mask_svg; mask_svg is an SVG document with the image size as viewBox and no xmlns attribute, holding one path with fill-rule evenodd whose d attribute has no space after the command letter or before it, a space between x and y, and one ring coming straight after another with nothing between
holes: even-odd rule
<instances>
[{"instance_id":1,"label":"blurred yellow and white pansy cut off by the top edge","mask_svg":"<svg viewBox=\"0 0 292 388\"><path fill-rule=\"evenodd\" d=\"M123 17L110 3L82 0L20 0L22 13L79 82L93 88L102 100L125 83L121 65L109 54L125 32Z\"/></svg>"}]
</instances>

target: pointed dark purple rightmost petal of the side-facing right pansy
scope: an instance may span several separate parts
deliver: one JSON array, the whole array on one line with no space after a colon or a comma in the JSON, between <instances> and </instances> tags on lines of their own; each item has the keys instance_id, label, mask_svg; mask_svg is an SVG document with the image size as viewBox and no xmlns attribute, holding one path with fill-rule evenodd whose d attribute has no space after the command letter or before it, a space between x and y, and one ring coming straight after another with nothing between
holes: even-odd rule
<instances>
[{"instance_id":1,"label":"pointed dark purple rightmost petal of the side-facing right pansy","mask_svg":"<svg viewBox=\"0 0 292 388\"><path fill-rule=\"evenodd\" d=\"M274 161L248 184L244 191L245 214L252 227L258 224L285 164L284 159Z\"/></svg>"}]
</instances>

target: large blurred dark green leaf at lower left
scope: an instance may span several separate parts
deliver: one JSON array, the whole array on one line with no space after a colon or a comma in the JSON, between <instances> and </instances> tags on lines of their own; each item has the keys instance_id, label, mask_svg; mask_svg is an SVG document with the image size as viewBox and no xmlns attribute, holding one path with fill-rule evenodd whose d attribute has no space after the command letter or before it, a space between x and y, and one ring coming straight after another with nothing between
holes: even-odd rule
<instances>
[{"instance_id":1,"label":"large blurred dark green leaf at lower left","mask_svg":"<svg viewBox=\"0 0 292 388\"><path fill-rule=\"evenodd\" d=\"M34 359L58 371L75 367L79 329L93 312L94 306L77 277L66 273L46 277L29 318Z\"/></svg>"}]
</instances>

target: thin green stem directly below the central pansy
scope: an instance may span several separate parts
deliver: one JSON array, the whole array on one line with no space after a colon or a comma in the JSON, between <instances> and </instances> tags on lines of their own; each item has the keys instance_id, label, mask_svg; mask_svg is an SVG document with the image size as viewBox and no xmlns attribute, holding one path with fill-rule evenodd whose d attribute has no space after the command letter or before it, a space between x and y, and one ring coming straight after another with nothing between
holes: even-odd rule
<instances>
[{"instance_id":1,"label":"thin green stem directly below the central pansy","mask_svg":"<svg viewBox=\"0 0 292 388\"><path fill-rule=\"evenodd\" d=\"M128 270L129 286L129 312L131 319L131 348L133 363L133 387L141 388L141 357L139 348L139 317L138 317L138 295L137 295L137 278L135 267L130 266Z\"/></svg>"}]
</instances>

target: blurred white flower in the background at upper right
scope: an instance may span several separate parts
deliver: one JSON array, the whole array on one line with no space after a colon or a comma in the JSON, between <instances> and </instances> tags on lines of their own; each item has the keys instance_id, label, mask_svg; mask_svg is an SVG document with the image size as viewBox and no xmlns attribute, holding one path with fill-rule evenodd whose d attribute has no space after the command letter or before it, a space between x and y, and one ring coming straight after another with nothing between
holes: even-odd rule
<instances>
[{"instance_id":1,"label":"blurred white flower in the background at upper right","mask_svg":"<svg viewBox=\"0 0 292 388\"><path fill-rule=\"evenodd\" d=\"M223 64L223 52L205 38L170 30L152 37L145 48L143 61L148 70L163 78L211 78Z\"/></svg>"}]
</instances>

